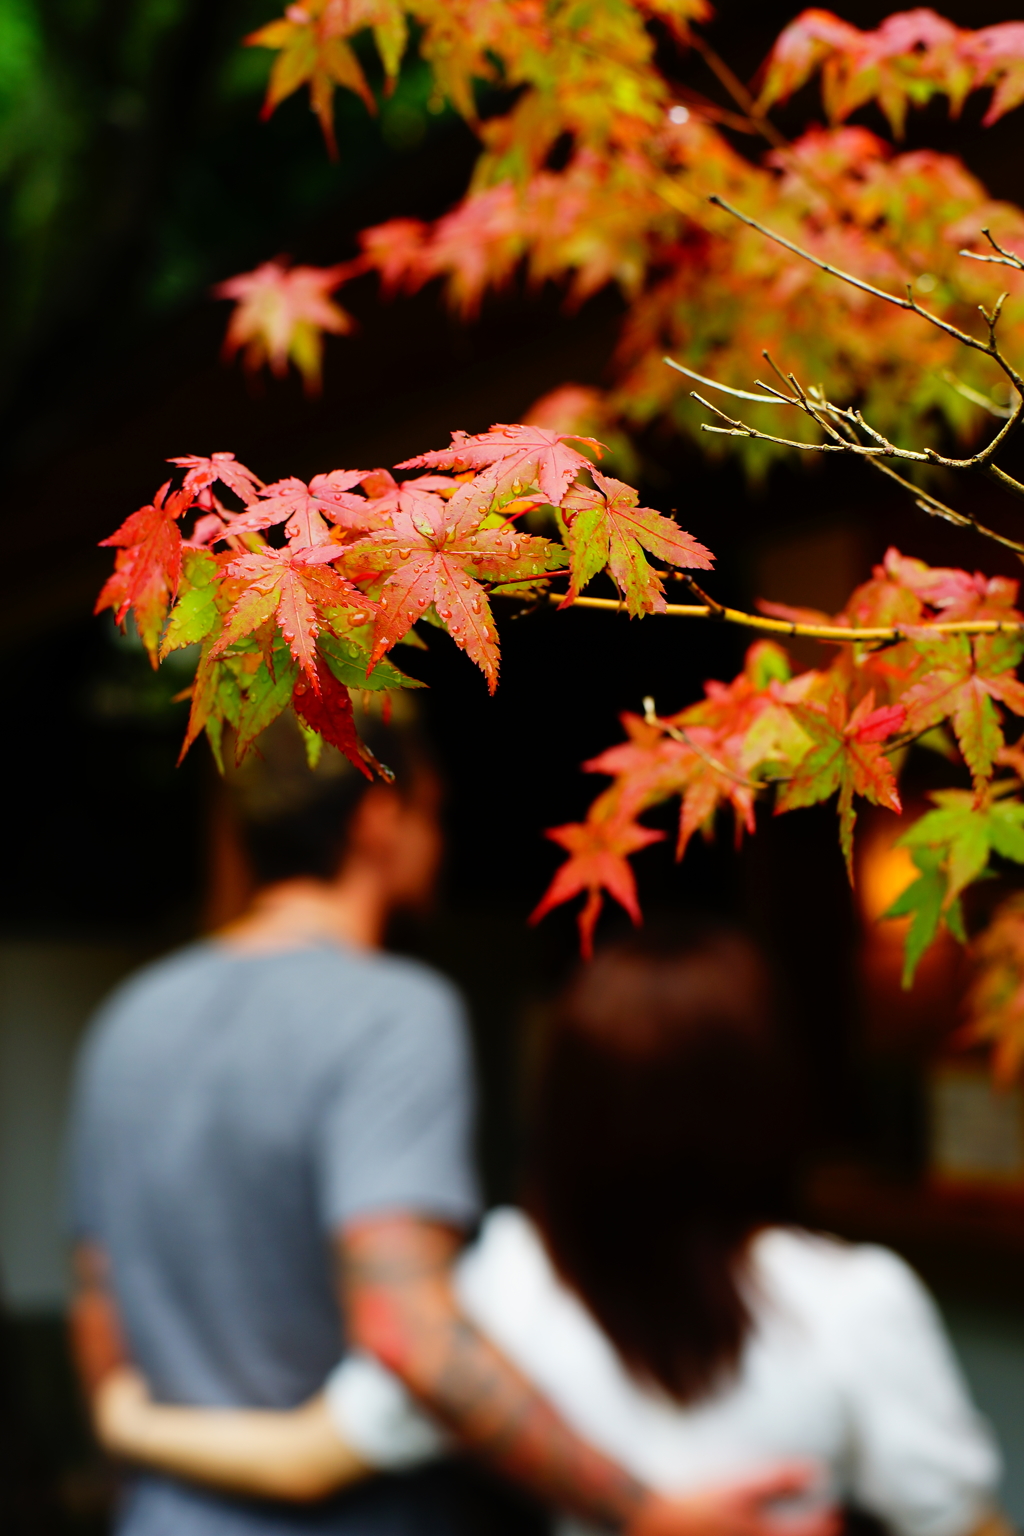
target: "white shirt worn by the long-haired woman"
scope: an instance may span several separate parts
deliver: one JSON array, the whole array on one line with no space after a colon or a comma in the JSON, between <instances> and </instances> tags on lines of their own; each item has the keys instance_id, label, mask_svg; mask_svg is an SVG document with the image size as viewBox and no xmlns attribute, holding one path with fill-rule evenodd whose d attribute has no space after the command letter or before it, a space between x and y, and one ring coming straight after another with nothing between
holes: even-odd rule
<instances>
[{"instance_id":1,"label":"white shirt worn by the long-haired woman","mask_svg":"<svg viewBox=\"0 0 1024 1536\"><path fill-rule=\"evenodd\" d=\"M898 1536L970 1531L992 1502L999 1458L903 1260L769 1227L752 1241L749 1275L754 1327L738 1369L686 1407L629 1375L522 1212L488 1217L461 1260L457 1292L573 1428L652 1488L683 1493L812 1459L832 1496ZM329 1401L375 1465L408 1465L442 1444L375 1361L345 1359Z\"/></svg>"}]
</instances>

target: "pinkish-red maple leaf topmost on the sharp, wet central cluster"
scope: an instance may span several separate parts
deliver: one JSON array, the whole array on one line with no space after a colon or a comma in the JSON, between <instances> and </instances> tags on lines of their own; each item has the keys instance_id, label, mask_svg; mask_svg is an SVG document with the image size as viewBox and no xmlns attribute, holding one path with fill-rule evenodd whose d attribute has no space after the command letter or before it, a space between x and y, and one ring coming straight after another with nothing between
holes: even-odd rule
<instances>
[{"instance_id":1,"label":"pinkish-red maple leaf topmost on the sharp, wet central cluster","mask_svg":"<svg viewBox=\"0 0 1024 1536\"><path fill-rule=\"evenodd\" d=\"M596 438L565 436L560 432L550 432L545 427L528 427L522 422L514 425L497 424L490 432L482 432L471 438L465 432L451 433L451 447L438 449L431 453L419 453L415 459L405 459L395 467L411 468L454 468L454 470L493 470L493 485L497 492L511 490L514 495L527 490L534 482L540 487L553 507L557 507L568 490L570 481L580 470L590 470L591 461L573 442L585 442L597 455L603 444Z\"/></svg>"}]
</instances>

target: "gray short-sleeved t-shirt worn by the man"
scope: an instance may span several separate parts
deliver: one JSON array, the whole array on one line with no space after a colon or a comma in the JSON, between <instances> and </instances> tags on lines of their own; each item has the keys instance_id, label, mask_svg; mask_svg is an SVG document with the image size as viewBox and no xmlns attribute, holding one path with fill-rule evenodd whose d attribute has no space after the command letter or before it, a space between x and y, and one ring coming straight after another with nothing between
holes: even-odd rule
<instances>
[{"instance_id":1,"label":"gray short-sleeved t-shirt worn by the man","mask_svg":"<svg viewBox=\"0 0 1024 1536\"><path fill-rule=\"evenodd\" d=\"M155 1396L316 1392L344 1349L332 1233L391 1210L470 1223L471 1106L457 994L413 962L201 943L130 978L80 1061L72 1221L109 1253ZM292 1510L141 1478L121 1536L441 1528L373 1519L375 1499L395 1488Z\"/></svg>"}]
</instances>

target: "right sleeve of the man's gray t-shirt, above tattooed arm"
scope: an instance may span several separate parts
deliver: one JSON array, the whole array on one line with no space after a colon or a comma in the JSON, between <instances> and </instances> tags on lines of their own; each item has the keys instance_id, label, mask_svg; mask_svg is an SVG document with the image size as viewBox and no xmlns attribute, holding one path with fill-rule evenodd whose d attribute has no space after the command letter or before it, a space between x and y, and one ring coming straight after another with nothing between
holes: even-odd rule
<instances>
[{"instance_id":1,"label":"right sleeve of the man's gray t-shirt, above tattooed arm","mask_svg":"<svg viewBox=\"0 0 1024 1536\"><path fill-rule=\"evenodd\" d=\"M318 1130L327 1229L356 1217L413 1212L471 1223L473 1072L457 994L404 978L333 1087Z\"/></svg>"}]
</instances>

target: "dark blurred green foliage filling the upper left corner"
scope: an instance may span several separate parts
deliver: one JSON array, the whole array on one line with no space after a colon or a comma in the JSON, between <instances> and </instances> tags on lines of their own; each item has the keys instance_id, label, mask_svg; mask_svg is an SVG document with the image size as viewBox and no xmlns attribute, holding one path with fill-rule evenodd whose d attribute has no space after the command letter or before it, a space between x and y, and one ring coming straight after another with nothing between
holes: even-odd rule
<instances>
[{"instance_id":1,"label":"dark blurred green foliage filling the upper left corner","mask_svg":"<svg viewBox=\"0 0 1024 1536\"><path fill-rule=\"evenodd\" d=\"M339 164L295 101L258 118L275 0L0 0L0 399L173 318L372 186L450 118L413 55L373 120L339 104ZM373 61L367 60L372 74Z\"/></svg>"}]
</instances>

